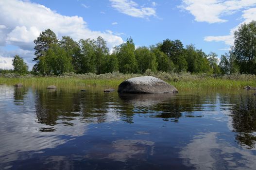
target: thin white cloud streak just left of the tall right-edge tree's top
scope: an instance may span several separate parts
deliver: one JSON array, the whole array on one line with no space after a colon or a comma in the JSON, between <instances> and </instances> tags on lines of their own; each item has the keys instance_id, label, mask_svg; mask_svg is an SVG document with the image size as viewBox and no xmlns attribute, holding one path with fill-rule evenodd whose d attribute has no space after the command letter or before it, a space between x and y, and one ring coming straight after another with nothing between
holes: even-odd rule
<instances>
[{"instance_id":1,"label":"thin white cloud streak just left of the tall right-edge tree's top","mask_svg":"<svg viewBox=\"0 0 256 170\"><path fill-rule=\"evenodd\" d=\"M256 20L256 8L250 8L243 11L242 18L244 21L240 23L235 28L232 28L230 30L229 35L223 35L223 36L206 36L205 41L215 41L215 42L224 42L226 45L233 46L234 45L234 32L238 30L239 26L243 23L249 23L252 20Z\"/></svg>"}]
</instances>

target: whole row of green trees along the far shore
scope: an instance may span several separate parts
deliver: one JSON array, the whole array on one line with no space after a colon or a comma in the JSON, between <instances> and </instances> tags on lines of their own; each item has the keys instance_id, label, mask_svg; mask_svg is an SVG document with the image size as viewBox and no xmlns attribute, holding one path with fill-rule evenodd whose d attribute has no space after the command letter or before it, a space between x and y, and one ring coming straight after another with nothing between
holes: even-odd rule
<instances>
[{"instance_id":1,"label":"whole row of green trees along the far shore","mask_svg":"<svg viewBox=\"0 0 256 170\"><path fill-rule=\"evenodd\" d=\"M180 40L166 39L150 47L135 47L130 37L126 42L107 47L99 36L95 39L74 41L70 36L58 40L50 29L40 33L34 40L34 61L32 72L41 75L75 73L144 73L152 71L208 74L256 73L256 21L242 24L234 34L234 46L220 62L214 52L206 54L193 45L184 47ZM27 72L27 65L19 56L13 60L14 70Z\"/></svg>"}]
</instances>

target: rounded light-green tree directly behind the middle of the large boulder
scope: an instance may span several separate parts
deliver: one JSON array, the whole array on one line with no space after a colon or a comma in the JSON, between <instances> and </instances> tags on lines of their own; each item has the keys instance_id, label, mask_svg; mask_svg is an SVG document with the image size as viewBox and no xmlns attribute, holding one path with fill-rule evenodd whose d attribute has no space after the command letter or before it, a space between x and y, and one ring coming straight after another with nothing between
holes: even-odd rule
<instances>
[{"instance_id":1,"label":"rounded light-green tree directly behind the middle of the large boulder","mask_svg":"<svg viewBox=\"0 0 256 170\"><path fill-rule=\"evenodd\" d=\"M138 64L138 73L143 74L147 69L156 71L156 59L152 51L147 47L139 47L135 50L135 57Z\"/></svg>"}]
</instances>

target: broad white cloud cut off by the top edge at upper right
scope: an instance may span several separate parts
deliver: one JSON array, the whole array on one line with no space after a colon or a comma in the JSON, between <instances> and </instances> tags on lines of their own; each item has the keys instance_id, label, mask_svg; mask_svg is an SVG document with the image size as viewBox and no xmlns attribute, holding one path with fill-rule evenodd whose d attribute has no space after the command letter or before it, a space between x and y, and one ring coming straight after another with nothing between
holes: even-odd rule
<instances>
[{"instance_id":1,"label":"broad white cloud cut off by the top edge at upper right","mask_svg":"<svg viewBox=\"0 0 256 170\"><path fill-rule=\"evenodd\" d=\"M183 0L180 7L189 11L198 22L226 22L221 17L256 5L256 0Z\"/></svg>"}]
</instances>

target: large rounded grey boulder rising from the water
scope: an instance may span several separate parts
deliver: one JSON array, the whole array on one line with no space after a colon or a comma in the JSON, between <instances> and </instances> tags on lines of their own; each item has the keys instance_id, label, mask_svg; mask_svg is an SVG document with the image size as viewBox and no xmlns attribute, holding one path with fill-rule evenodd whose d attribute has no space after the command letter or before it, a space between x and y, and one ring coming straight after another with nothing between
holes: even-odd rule
<instances>
[{"instance_id":1,"label":"large rounded grey boulder rising from the water","mask_svg":"<svg viewBox=\"0 0 256 170\"><path fill-rule=\"evenodd\" d=\"M178 93L178 90L161 79L142 76L123 81L118 93Z\"/></svg>"}]
</instances>

